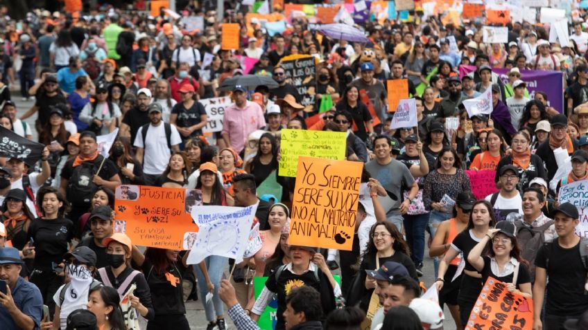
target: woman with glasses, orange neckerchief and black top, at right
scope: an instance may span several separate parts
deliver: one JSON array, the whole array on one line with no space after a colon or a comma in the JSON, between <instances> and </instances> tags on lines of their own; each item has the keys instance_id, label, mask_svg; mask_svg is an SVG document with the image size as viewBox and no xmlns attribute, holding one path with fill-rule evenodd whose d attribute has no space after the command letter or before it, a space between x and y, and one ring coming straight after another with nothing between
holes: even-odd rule
<instances>
[{"instance_id":1,"label":"woman with glasses, orange neckerchief and black top, at right","mask_svg":"<svg viewBox=\"0 0 588 330\"><path fill-rule=\"evenodd\" d=\"M512 136L510 155L505 155L496 165L496 176L494 182L499 182L500 169L505 165L514 165L519 169L519 183L517 190L521 194L529 186L533 178L543 178L547 180L547 172L543 165L543 160L530 151L530 136L526 131L518 131Z\"/></svg>"}]
</instances>

